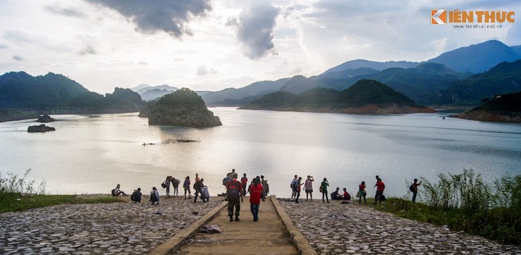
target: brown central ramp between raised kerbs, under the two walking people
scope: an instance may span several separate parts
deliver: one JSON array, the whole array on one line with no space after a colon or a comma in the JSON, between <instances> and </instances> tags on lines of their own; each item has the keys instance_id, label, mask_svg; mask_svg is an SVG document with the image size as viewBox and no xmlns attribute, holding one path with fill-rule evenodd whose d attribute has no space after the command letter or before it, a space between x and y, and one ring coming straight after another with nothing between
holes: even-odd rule
<instances>
[{"instance_id":1,"label":"brown central ramp between raised kerbs, under the two walking people","mask_svg":"<svg viewBox=\"0 0 521 255\"><path fill-rule=\"evenodd\" d=\"M217 225L221 234L195 234L177 254L298 254L271 198L260 202L258 222L253 221L248 199L241 204L239 222L230 222L225 207L208 223Z\"/></svg>"}]
</instances>

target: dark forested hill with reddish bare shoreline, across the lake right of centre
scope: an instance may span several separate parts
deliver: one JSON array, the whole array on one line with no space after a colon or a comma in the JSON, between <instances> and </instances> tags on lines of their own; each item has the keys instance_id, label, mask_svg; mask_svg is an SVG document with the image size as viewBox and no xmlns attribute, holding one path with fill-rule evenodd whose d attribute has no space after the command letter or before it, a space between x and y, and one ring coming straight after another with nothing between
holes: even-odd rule
<instances>
[{"instance_id":1,"label":"dark forested hill with reddish bare shoreline, across the lake right of centre","mask_svg":"<svg viewBox=\"0 0 521 255\"><path fill-rule=\"evenodd\" d=\"M418 105L411 98L379 81L366 79L358 81L350 88L340 92L325 88L313 88L298 95L284 91L274 92L254 100L240 109L362 114L434 111Z\"/></svg>"}]
</instances>

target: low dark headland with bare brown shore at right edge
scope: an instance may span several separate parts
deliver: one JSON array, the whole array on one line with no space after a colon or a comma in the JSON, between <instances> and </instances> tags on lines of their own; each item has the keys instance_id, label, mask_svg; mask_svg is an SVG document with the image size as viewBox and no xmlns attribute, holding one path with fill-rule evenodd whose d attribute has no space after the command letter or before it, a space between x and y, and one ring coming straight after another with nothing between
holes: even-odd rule
<instances>
[{"instance_id":1,"label":"low dark headland with bare brown shore at right edge","mask_svg":"<svg viewBox=\"0 0 521 255\"><path fill-rule=\"evenodd\" d=\"M484 103L456 116L466 120L521 123L521 91L484 98Z\"/></svg>"}]
</instances>

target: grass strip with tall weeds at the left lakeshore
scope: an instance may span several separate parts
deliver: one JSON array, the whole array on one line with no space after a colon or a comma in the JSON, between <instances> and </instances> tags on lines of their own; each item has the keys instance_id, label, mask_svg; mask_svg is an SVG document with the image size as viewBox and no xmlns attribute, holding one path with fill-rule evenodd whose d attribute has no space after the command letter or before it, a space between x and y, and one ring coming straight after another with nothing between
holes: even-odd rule
<instances>
[{"instance_id":1,"label":"grass strip with tall weeds at the left lakeshore","mask_svg":"<svg viewBox=\"0 0 521 255\"><path fill-rule=\"evenodd\" d=\"M119 198L78 198L75 195L46 195L45 182L34 188L34 180L25 179L31 170L27 170L23 177L8 174L2 178L0 174L0 213L27 211L56 204L94 204L123 202Z\"/></svg>"}]
</instances>

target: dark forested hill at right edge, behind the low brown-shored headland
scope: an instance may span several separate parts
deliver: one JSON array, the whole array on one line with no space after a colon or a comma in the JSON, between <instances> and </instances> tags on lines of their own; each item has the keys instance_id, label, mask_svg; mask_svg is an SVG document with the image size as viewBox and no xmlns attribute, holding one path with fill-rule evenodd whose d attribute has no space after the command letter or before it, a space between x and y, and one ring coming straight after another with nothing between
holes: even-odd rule
<instances>
[{"instance_id":1,"label":"dark forested hill at right edge, behind the low brown-shored headland","mask_svg":"<svg viewBox=\"0 0 521 255\"><path fill-rule=\"evenodd\" d=\"M503 62L487 72L455 81L441 93L441 105L480 105L483 98L521 90L521 59Z\"/></svg>"}]
</instances>

